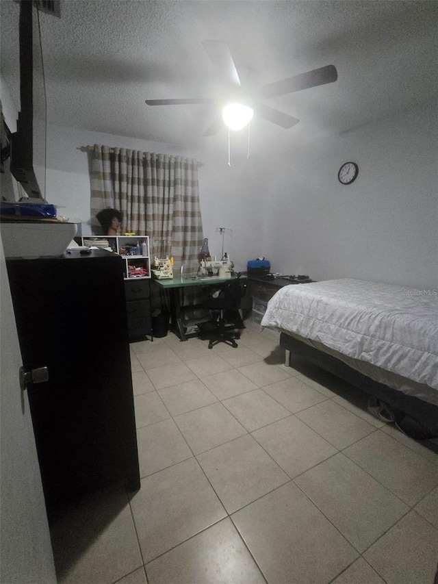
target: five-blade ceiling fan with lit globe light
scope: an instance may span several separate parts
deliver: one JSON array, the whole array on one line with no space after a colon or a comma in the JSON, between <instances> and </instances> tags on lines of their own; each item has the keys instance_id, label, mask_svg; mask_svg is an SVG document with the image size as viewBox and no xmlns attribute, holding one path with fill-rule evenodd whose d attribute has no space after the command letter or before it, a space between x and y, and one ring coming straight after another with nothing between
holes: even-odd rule
<instances>
[{"instance_id":1,"label":"five-blade ceiling fan with lit globe light","mask_svg":"<svg viewBox=\"0 0 438 584\"><path fill-rule=\"evenodd\" d=\"M237 68L227 43L222 40L203 40L202 44L211 63L216 68L220 80L224 83L224 86L230 88L230 90L227 91L226 98L222 100L222 106L224 105L224 102L228 105L233 103L238 105L240 111L242 112L243 110L246 114L246 118L242 118L240 123L236 123L235 127L233 127L230 120L225 120L225 123L232 129L239 129L237 126L244 127L244 125L247 125L254 113L260 118L268 120L269 122L285 129L292 128L292 126L298 124L299 120L297 118L289 116L289 114L285 114L279 110L275 110L273 107L269 107L268 105L261 103L259 100L270 99L271 97L277 97L279 95L300 91L302 89L333 83L333 81L336 81L337 79L336 67L334 65L326 65L325 67L307 71L307 73L300 73L300 75L294 75L294 77L275 81L274 83L265 85L257 90L246 90L242 88ZM220 99L213 97L194 99L146 99L147 105L219 104L220 102ZM224 118L225 115L224 112ZM222 120L217 116L216 120L214 120L207 131L205 131L204 136L214 136L215 134L218 134L222 125Z\"/></svg>"}]
</instances>

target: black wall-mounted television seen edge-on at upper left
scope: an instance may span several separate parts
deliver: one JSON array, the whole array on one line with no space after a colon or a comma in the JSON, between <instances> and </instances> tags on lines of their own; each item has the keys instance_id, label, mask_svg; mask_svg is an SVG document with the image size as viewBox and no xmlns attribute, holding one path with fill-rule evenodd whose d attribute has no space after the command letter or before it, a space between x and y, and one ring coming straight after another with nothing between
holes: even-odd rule
<instances>
[{"instance_id":1,"label":"black wall-mounted television seen edge-on at upper left","mask_svg":"<svg viewBox=\"0 0 438 584\"><path fill-rule=\"evenodd\" d=\"M45 199L46 95L36 3L20 2L20 111L10 137L10 170L27 196ZM38 180L36 177L38 169Z\"/></svg>"}]
</instances>

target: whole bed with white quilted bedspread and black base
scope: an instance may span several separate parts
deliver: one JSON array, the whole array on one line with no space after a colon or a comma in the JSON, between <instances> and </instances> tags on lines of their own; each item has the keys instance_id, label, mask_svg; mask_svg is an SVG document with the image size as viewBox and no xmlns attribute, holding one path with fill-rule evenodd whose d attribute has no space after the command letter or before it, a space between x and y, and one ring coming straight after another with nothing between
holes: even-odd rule
<instances>
[{"instance_id":1,"label":"whole bed with white quilted bedspread and black base","mask_svg":"<svg viewBox=\"0 0 438 584\"><path fill-rule=\"evenodd\" d=\"M281 332L287 364L291 353L304 357L368 392L388 421L438 436L438 290L358 279L287 285L261 326Z\"/></svg>"}]
</instances>

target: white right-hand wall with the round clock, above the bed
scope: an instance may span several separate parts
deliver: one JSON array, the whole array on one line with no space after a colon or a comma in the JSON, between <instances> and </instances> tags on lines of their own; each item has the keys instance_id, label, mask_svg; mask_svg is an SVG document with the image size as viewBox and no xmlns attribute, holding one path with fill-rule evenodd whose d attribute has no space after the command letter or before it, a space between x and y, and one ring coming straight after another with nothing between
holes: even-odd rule
<instances>
[{"instance_id":1,"label":"white right-hand wall with the round clock, above the bed","mask_svg":"<svg viewBox=\"0 0 438 584\"><path fill-rule=\"evenodd\" d=\"M279 157L263 225L272 268L437 288L437 113L402 112ZM348 160L359 175L343 186Z\"/></svg>"}]
</instances>

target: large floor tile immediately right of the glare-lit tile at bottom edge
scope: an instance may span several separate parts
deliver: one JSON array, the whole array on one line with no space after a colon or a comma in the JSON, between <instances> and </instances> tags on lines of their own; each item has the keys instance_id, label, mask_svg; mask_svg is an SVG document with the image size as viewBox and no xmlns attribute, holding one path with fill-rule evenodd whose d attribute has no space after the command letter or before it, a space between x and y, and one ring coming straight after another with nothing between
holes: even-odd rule
<instances>
[{"instance_id":1,"label":"large floor tile immediately right of the glare-lit tile at bottom edge","mask_svg":"<svg viewBox=\"0 0 438 584\"><path fill-rule=\"evenodd\" d=\"M231 518L269 584L328 584L358 556L292 483Z\"/></svg>"}]
</instances>

